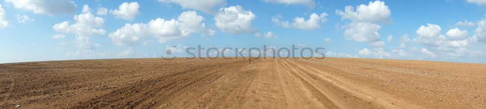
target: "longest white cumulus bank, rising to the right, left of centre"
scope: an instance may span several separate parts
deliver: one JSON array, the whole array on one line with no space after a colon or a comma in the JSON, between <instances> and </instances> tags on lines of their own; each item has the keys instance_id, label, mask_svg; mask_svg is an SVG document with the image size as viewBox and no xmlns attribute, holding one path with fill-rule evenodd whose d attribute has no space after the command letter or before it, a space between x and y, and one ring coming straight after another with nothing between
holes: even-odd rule
<instances>
[{"instance_id":1,"label":"longest white cumulus bank, rising to the right, left of centre","mask_svg":"<svg viewBox=\"0 0 486 109\"><path fill-rule=\"evenodd\" d=\"M125 24L117 31L110 33L109 38L116 45L132 47L143 41L151 40L151 38L155 38L159 43L164 43L168 40L188 37L196 32L213 35L215 31L206 28L206 25L201 23L203 20L204 17L197 15L196 12L187 11L181 13L177 20L157 18L147 24Z\"/></svg>"}]
</instances>

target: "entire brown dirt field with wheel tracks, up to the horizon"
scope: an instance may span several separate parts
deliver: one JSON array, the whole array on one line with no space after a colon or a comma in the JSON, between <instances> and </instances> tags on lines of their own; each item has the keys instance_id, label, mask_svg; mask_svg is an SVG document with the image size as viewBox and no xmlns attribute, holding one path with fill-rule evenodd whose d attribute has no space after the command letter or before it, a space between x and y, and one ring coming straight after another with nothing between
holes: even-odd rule
<instances>
[{"instance_id":1,"label":"entire brown dirt field with wheel tracks, up to the horizon","mask_svg":"<svg viewBox=\"0 0 486 109\"><path fill-rule=\"evenodd\" d=\"M326 58L0 64L0 109L484 109L486 65Z\"/></svg>"}]
</instances>

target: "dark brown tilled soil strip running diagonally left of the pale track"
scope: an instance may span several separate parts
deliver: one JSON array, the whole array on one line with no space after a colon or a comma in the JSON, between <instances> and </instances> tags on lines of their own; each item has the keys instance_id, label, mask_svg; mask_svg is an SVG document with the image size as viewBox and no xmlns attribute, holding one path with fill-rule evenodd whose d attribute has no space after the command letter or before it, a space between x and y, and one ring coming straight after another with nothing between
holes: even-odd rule
<instances>
[{"instance_id":1,"label":"dark brown tilled soil strip running diagonally left of the pale track","mask_svg":"<svg viewBox=\"0 0 486 109\"><path fill-rule=\"evenodd\" d=\"M230 63L236 63L236 62L243 62L243 61L233 61ZM171 95L175 93L177 90L174 91L175 89L182 89L184 88L184 85L181 86L183 83L187 83L188 80L194 79L197 77L200 77L198 75L204 74L205 77L208 75L215 73L217 71L221 71L223 69L219 69L216 71L210 71L217 69L217 66L223 66L223 65L233 65L230 63L216 63L213 65L206 65L206 66L199 66L195 68L190 68L187 70L175 72L171 75L168 76L162 76L153 80L148 80L147 82L143 82L143 84L134 84L132 86L127 86L125 88L121 88L119 90L115 90L112 93L108 95L103 95L97 98L94 98L90 100L89 102L86 103L81 103L77 108L135 108L136 106L139 106L139 104L142 101L145 101L147 99L154 99L153 96L162 96L161 98L158 98L159 100L157 101L152 101L148 103L148 106L153 106L157 102L163 102L167 99L164 100L168 95ZM200 72L200 73L198 73ZM174 78L175 79L168 79L168 78ZM203 77L204 78L204 77ZM165 80L165 81L161 81ZM189 82L189 83L193 83ZM157 85L156 85L157 84ZM186 84L187 85L187 84ZM145 90L140 90L140 89L145 89ZM147 90L149 89L149 90ZM143 94L140 94L142 92ZM110 104L104 104L103 102L108 102Z\"/></svg>"}]
</instances>

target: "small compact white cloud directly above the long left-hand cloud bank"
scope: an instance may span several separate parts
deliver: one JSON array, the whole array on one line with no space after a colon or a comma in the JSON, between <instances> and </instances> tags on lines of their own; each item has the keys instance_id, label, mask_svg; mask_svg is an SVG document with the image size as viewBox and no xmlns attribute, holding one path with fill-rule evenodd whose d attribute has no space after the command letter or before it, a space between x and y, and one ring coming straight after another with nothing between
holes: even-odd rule
<instances>
[{"instance_id":1,"label":"small compact white cloud directly above the long left-hand cloud bank","mask_svg":"<svg viewBox=\"0 0 486 109\"><path fill-rule=\"evenodd\" d=\"M118 9L110 10L110 13L115 15L116 18L134 20L135 16L140 13L139 8L140 6L138 2L123 2Z\"/></svg>"}]
</instances>

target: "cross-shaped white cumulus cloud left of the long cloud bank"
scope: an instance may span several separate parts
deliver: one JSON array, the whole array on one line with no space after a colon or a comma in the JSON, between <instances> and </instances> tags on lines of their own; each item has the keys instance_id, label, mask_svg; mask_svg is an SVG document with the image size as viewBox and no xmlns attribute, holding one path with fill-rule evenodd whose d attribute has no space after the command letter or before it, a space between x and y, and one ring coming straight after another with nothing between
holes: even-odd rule
<instances>
[{"instance_id":1,"label":"cross-shaped white cumulus cloud left of the long cloud bank","mask_svg":"<svg viewBox=\"0 0 486 109\"><path fill-rule=\"evenodd\" d=\"M89 8L89 7L85 7ZM73 18L76 22L69 24L69 21L55 24L52 28L61 33L71 33L76 35L74 43L78 48L92 48L91 36L104 35L106 31L102 29L104 18L96 17L91 12L75 15Z\"/></svg>"}]
</instances>

